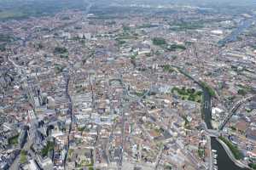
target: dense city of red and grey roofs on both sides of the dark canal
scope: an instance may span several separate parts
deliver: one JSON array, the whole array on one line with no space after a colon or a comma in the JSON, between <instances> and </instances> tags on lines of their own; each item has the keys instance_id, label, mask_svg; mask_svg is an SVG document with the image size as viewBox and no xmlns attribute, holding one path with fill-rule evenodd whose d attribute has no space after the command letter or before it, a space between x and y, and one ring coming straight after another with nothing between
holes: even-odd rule
<instances>
[{"instance_id":1,"label":"dense city of red and grey roofs on both sides of the dark canal","mask_svg":"<svg viewBox=\"0 0 256 170\"><path fill-rule=\"evenodd\" d=\"M202 89L175 68L212 87L218 129L256 90L253 28L218 46L251 16L94 8L0 23L17 37L0 52L0 169L211 168ZM255 102L223 130L245 163L256 158Z\"/></svg>"}]
</instances>

